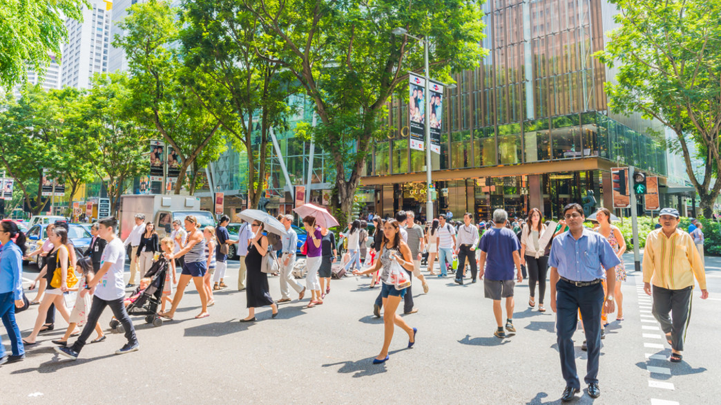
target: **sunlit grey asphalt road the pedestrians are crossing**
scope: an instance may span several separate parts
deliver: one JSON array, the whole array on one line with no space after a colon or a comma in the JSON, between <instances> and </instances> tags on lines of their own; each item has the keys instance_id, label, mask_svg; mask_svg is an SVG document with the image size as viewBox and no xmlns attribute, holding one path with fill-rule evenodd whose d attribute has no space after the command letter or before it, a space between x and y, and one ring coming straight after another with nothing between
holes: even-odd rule
<instances>
[{"instance_id":1,"label":"sunlit grey asphalt road the pedestrians are crossing","mask_svg":"<svg viewBox=\"0 0 721 405\"><path fill-rule=\"evenodd\" d=\"M632 269L632 256L625 259ZM230 286L236 285L238 266L229 265ZM30 266L25 276L36 271ZM665 360L671 350L649 316L640 273L629 272L625 321L612 322L603 341L601 397L592 401L583 393L577 403L715 403L721 393L720 258L707 258L707 277L710 298L700 300L694 292L684 362L675 364ZM557 403L565 383L554 315L528 308L527 282L516 287L518 333L501 340L492 336L495 322L482 283L461 287L451 277L433 277L424 295L414 281L419 312L405 319L418 328L417 343L406 349L407 335L397 328L390 360L373 365L383 326L371 314L379 289L368 289L369 280L333 280L324 305L308 309L307 297L293 300L280 306L276 319L262 308L256 323L238 322L247 315L245 293L234 289L216 294L211 316L196 320L200 302L191 291L172 322L156 328L135 318L141 350L122 356L113 353L125 339L108 331L107 341L87 345L79 360L58 357L50 340L63 334L60 320L55 331L40 335L41 344L27 349L25 361L0 367L0 404ZM277 277L270 278L270 287L280 298ZM22 334L30 334L35 311L17 318ZM101 323L106 330L109 320L107 310ZM583 379L583 332L575 341Z\"/></svg>"}]
</instances>

